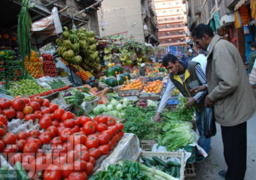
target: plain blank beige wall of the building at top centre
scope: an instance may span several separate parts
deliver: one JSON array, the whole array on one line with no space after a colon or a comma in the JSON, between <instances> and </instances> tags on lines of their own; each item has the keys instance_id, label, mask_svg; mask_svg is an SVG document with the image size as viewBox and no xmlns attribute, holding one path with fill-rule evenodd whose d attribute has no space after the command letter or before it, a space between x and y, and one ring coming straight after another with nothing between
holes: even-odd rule
<instances>
[{"instance_id":1,"label":"plain blank beige wall of the building at top centre","mask_svg":"<svg viewBox=\"0 0 256 180\"><path fill-rule=\"evenodd\" d=\"M141 9L141 3L137 0L103 1L98 10L100 35L112 35L127 31L127 35L133 35L135 41L144 42ZM136 23L135 26L133 26L134 23Z\"/></svg>"}]
</instances>

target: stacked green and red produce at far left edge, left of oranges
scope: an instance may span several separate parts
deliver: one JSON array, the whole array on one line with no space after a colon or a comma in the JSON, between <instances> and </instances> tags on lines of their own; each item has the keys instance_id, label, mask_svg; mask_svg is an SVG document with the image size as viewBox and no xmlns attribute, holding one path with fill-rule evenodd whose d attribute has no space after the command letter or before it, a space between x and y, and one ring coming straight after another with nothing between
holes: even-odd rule
<instances>
[{"instance_id":1,"label":"stacked green and red produce at far left edge, left of oranges","mask_svg":"<svg viewBox=\"0 0 256 180\"><path fill-rule=\"evenodd\" d=\"M22 78L22 62L12 50L0 51L0 81Z\"/></svg>"}]
</instances>

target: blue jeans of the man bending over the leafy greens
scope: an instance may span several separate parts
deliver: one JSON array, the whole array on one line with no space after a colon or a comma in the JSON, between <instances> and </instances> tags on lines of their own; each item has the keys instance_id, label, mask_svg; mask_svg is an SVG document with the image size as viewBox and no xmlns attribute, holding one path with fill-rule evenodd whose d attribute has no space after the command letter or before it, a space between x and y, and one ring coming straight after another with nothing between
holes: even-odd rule
<instances>
[{"instance_id":1,"label":"blue jeans of the man bending over the leafy greens","mask_svg":"<svg viewBox=\"0 0 256 180\"><path fill-rule=\"evenodd\" d=\"M198 131L200 134L198 145L200 145L203 148L205 153L209 154L211 149L211 137L206 138L203 135L203 120L204 120L204 112L200 113L196 111L196 126L198 126Z\"/></svg>"}]
</instances>

